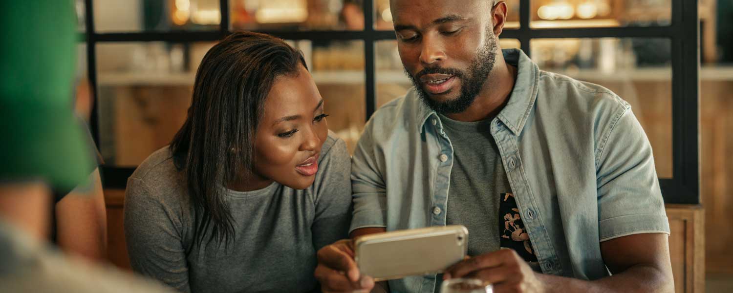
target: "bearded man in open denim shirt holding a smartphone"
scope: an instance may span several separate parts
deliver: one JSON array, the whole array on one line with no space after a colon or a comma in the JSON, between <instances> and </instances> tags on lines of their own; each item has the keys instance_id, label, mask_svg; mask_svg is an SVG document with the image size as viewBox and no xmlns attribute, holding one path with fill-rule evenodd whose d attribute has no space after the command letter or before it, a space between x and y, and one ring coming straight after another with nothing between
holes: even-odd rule
<instances>
[{"instance_id":1,"label":"bearded man in open denim shirt holding a smartphone","mask_svg":"<svg viewBox=\"0 0 733 293\"><path fill-rule=\"evenodd\" d=\"M673 291L652 149L630 106L501 51L507 5L493 2L390 2L415 87L380 108L358 142L351 237L468 227L470 259L389 281L393 292L463 277L495 292ZM374 286L349 243L319 251L325 291Z\"/></svg>"}]
</instances>

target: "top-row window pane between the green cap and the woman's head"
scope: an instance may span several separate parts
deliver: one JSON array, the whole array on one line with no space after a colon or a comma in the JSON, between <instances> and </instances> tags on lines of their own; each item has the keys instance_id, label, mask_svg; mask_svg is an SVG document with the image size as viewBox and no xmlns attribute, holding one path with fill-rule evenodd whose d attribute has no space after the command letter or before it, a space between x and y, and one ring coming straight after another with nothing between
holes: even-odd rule
<instances>
[{"instance_id":1,"label":"top-row window pane between the green cap and the woman's head","mask_svg":"<svg viewBox=\"0 0 733 293\"><path fill-rule=\"evenodd\" d=\"M218 0L93 0L95 30L105 32L218 30Z\"/></svg>"}]
</instances>

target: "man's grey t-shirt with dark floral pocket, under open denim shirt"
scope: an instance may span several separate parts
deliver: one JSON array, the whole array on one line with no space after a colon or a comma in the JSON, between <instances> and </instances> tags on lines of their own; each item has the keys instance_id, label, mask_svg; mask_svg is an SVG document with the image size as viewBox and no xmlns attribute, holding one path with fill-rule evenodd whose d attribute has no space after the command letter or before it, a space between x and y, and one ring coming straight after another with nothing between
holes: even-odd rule
<instances>
[{"instance_id":1,"label":"man's grey t-shirt with dark floral pocket, under open denim shirt","mask_svg":"<svg viewBox=\"0 0 733 293\"><path fill-rule=\"evenodd\" d=\"M490 120L459 122L441 115L443 131L453 145L446 225L468 228L468 255L498 251L499 199L512 193Z\"/></svg>"}]
</instances>

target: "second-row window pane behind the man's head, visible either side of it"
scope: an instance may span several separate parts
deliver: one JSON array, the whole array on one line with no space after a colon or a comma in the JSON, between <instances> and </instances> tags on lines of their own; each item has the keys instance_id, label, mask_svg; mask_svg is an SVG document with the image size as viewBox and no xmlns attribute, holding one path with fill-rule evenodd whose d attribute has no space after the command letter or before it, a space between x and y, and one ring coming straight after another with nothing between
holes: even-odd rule
<instances>
[{"instance_id":1,"label":"second-row window pane behind the man's head, visible either side of it","mask_svg":"<svg viewBox=\"0 0 733 293\"><path fill-rule=\"evenodd\" d=\"M519 48L519 40L499 39L501 48ZM402 97L413 86L405 75L402 61L397 52L396 40L377 41L375 50L375 66L377 68L377 108Z\"/></svg>"}]
</instances>

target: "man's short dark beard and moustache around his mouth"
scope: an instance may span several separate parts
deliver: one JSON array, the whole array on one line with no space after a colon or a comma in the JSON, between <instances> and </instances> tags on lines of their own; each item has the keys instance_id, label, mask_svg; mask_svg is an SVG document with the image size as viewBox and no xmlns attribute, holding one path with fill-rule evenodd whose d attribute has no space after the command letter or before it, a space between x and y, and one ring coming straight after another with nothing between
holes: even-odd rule
<instances>
[{"instance_id":1,"label":"man's short dark beard and moustache around his mouth","mask_svg":"<svg viewBox=\"0 0 733 293\"><path fill-rule=\"evenodd\" d=\"M494 37L493 31L490 28L487 30L488 36L486 42L482 48L479 48L476 57L471 61L471 67L468 67L469 74L454 68L426 67L417 73L416 76L413 76L405 68L405 73L407 73L415 89L417 89L421 100L427 103L432 110L439 114L461 113L474 103L484 84L486 84L496 62L496 37ZM460 95L455 99L445 101L431 99L427 92L425 92L423 84L420 81L422 75L431 73L455 75L455 77L460 78Z\"/></svg>"}]
</instances>

